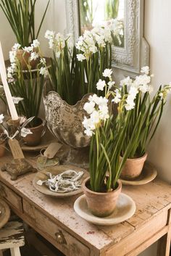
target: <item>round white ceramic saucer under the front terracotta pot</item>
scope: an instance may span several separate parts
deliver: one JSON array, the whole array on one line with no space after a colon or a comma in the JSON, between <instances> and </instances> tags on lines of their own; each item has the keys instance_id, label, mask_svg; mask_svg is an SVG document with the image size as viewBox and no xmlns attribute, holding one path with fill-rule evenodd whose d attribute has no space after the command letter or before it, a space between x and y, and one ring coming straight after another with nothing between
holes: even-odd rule
<instances>
[{"instance_id":1,"label":"round white ceramic saucer under the front terracotta pot","mask_svg":"<svg viewBox=\"0 0 171 256\"><path fill-rule=\"evenodd\" d=\"M81 218L87 220L90 223L102 226L110 226L117 223L121 223L124 220L128 220L135 213L135 202L132 198L126 194L121 193L117 199L117 206L112 215L105 218L94 216L88 209L86 202L86 196L80 196L74 203L75 212L80 215Z\"/></svg>"}]
</instances>

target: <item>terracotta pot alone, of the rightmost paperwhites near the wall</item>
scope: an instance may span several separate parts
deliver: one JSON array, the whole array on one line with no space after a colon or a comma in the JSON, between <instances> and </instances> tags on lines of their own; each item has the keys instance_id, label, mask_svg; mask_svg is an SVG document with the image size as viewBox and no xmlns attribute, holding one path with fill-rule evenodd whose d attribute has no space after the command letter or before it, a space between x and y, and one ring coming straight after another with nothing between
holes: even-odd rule
<instances>
[{"instance_id":1,"label":"terracotta pot alone, of the rightmost paperwhites near the wall","mask_svg":"<svg viewBox=\"0 0 171 256\"><path fill-rule=\"evenodd\" d=\"M144 162L146 161L147 153L143 157L139 158L128 158L122 168L121 178L124 180L133 180L141 175L143 170Z\"/></svg>"}]
</instances>

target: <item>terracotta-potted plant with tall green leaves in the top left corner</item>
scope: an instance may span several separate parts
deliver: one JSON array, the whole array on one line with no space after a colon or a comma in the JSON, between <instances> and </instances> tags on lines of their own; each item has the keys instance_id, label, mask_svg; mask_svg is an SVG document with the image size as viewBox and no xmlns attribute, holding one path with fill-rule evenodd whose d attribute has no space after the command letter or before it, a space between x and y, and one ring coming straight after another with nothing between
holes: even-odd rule
<instances>
[{"instance_id":1,"label":"terracotta-potted plant with tall green leaves in the top left corner","mask_svg":"<svg viewBox=\"0 0 171 256\"><path fill-rule=\"evenodd\" d=\"M17 57L20 59L23 70L27 69L28 58L30 57L30 42L38 38L50 0L46 5L37 32L35 29L36 1L37 0L0 0L0 7L17 38L17 44L20 45L17 49ZM32 60L30 65L35 67L36 62Z\"/></svg>"}]
</instances>

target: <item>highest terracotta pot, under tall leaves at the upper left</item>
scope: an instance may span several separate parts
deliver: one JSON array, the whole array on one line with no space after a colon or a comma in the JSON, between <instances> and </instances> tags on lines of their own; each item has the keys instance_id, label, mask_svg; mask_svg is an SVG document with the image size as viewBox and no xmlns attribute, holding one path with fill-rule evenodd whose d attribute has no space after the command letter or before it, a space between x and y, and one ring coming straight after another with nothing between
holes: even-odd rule
<instances>
[{"instance_id":1,"label":"highest terracotta pot, under tall leaves at the upper left","mask_svg":"<svg viewBox=\"0 0 171 256\"><path fill-rule=\"evenodd\" d=\"M36 49L34 49L34 51L38 52L38 50ZM36 68L36 66L38 65L38 62L40 61L40 59L36 59L36 60L33 59L31 62L29 62L28 61L29 58L30 58L30 52L24 51L23 49L17 50L17 59L20 62L22 70L28 70L27 65L30 65L33 70L34 68Z\"/></svg>"}]
</instances>

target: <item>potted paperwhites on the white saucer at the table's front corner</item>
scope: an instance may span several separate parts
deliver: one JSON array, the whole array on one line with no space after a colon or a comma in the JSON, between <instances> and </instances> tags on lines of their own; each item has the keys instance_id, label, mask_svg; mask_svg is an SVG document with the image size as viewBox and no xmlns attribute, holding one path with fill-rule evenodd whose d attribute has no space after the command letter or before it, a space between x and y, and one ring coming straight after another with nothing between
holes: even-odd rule
<instances>
[{"instance_id":1,"label":"potted paperwhites on the white saucer at the table's front corner","mask_svg":"<svg viewBox=\"0 0 171 256\"><path fill-rule=\"evenodd\" d=\"M97 83L99 91L105 96L93 94L84 105L87 115L83 126L87 136L91 137L89 153L90 178L83 182L88 208L93 215L104 217L114 211L117 197L121 191L120 173L132 150L136 127L120 159L125 131L128 129L130 112L125 108L128 94L119 94L114 90L112 70L104 70L104 80ZM113 87L113 88L112 88ZM119 100L118 100L119 99ZM117 115L112 115L112 102L119 102ZM125 111L125 117L122 112Z\"/></svg>"}]
</instances>

